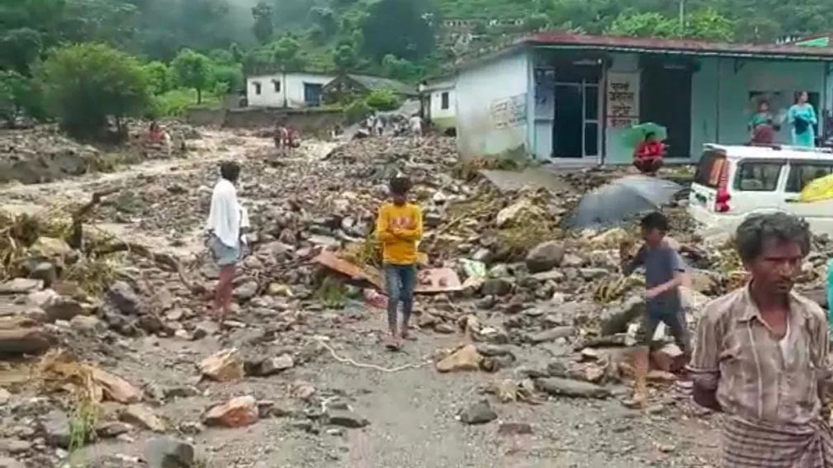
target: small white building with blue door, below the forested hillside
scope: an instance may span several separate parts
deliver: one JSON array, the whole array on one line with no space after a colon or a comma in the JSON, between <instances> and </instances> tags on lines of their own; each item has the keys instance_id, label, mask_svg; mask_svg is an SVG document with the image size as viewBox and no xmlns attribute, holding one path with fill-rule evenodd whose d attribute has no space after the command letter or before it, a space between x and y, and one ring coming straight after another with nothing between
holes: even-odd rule
<instances>
[{"instance_id":1,"label":"small white building with blue door, below the forested hillside","mask_svg":"<svg viewBox=\"0 0 833 468\"><path fill-rule=\"evenodd\" d=\"M304 72L277 72L246 78L250 107L316 107L322 102L322 89L334 75Z\"/></svg>"}]
</instances>

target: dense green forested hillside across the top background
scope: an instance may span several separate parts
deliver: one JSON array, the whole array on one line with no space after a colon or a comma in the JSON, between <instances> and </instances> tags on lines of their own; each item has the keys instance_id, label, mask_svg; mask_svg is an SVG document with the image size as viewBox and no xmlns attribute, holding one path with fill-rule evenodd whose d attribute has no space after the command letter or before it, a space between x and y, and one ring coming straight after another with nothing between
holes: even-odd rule
<instances>
[{"instance_id":1,"label":"dense green forested hillside across the top background","mask_svg":"<svg viewBox=\"0 0 833 468\"><path fill-rule=\"evenodd\" d=\"M267 69L414 82L542 28L772 42L828 24L829 0L3 0L0 118L89 134L210 105Z\"/></svg>"}]
</instances>

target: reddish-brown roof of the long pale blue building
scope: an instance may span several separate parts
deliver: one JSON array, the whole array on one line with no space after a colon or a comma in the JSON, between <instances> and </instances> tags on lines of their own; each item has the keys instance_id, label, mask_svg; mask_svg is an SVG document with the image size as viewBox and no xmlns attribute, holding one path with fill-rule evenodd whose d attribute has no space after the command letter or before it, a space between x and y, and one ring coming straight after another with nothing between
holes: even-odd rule
<instances>
[{"instance_id":1,"label":"reddish-brown roof of the long pale blue building","mask_svg":"<svg viewBox=\"0 0 833 468\"><path fill-rule=\"evenodd\" d=\"M566 32L541 32L522 38L531 46L595 49L623 52L656 52L680 55L746 58L780 58L833 62L833 47L802 47L795 44L741 44L688 39L586 36Z\"/></svg>"}]
</instances>

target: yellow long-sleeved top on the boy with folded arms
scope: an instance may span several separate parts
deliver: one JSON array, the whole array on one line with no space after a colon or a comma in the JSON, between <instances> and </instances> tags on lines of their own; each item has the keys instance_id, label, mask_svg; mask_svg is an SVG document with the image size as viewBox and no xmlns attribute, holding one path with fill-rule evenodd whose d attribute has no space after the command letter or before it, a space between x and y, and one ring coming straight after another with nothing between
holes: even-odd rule
<instances>
[{"instance_id":1,"label":"yellow long-sleeved top on the boy with folded arms","mask_svg":"<svg viewBox=\"0 0 833 468\"><path fill-rule=\"evenodd\" d=\"M412 203L387 202L379 208L376 236L382 242L382 258L392 265L416 264L416 243L422 237L422 210Z\"/></svg>"}]
</instances>

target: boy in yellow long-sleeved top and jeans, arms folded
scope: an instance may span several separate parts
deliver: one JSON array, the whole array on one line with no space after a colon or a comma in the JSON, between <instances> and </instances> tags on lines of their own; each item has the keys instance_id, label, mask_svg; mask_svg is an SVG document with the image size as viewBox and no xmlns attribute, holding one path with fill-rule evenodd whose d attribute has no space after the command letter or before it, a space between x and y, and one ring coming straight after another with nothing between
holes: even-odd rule
<instances>
[{"instance_id":1,"label":"boy in yellow long-sleeved top and jeans, arms folded","mask_svg":"<svg viewBox=\"0 0 833 468\"><path fill-rule=\"evenodd\" d=\"M392 201L379 208L376 236L382 242L382 261L387 289L387 346L397 349L408 338L408 319L413 310L416 286L416 242L422 237L422 211L407 201L411 181L394 177L390 183ZM402 334L397 335L397 306L402 301Z\"/></svg>"}]
</instances>

